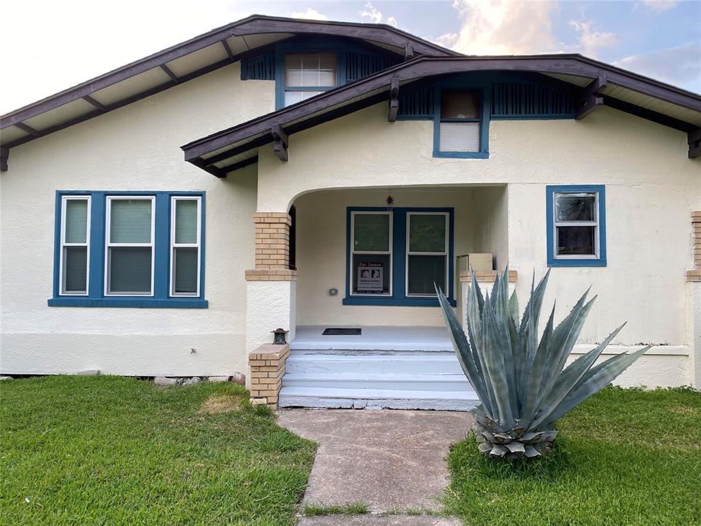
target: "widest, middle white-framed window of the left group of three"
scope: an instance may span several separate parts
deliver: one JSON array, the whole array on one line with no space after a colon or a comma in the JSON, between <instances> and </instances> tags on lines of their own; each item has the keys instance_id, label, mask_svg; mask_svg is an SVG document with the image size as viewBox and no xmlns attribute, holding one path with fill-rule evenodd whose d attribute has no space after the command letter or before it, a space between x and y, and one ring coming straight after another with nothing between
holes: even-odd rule
<instances>
[{"instance_id":1,"label":"widest, middle white-framed window of the left group of three","mask_svg":"<svg viewBox=\"0 0 701 526\"><path fill-rule=\"evenodd\" d=\"M154 295L154 201L107 197L105 295Z\"/></svg>"}]
</instances>

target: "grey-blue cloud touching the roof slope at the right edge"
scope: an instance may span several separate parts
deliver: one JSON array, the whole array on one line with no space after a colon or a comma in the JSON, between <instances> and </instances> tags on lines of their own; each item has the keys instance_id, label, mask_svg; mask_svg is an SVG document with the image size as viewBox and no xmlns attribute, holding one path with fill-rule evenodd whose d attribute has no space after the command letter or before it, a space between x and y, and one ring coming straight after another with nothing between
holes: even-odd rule
<instances>
[{"instance_id":1,"label":"grey-blue cloud touching the roof slope at the right edge","mask_svg":"<svg viewBox=\"0 0 701 526\"><path fill-rule=\"evenodd\" d=\"M701 43L698 42L632 55L613 65L701 92Z\"/></svg>"}]
</instances>

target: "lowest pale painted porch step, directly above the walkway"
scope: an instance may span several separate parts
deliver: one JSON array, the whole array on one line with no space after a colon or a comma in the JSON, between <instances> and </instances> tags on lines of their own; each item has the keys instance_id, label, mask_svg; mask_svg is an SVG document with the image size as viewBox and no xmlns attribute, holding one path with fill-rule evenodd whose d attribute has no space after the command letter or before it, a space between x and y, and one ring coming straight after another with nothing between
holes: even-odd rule
<instances>
[{"instance_id":1,"label":"lowest pale painted porch step, directly above the walkway","mask_svg":"<svg viewBox=\"0 0 701 526\"><path fill-rule=\"evenodd\" d=\"M338 389L283 386L280 407L423 409L468 411L479 405L474 391Z\"/></svg>"}]
</instances>

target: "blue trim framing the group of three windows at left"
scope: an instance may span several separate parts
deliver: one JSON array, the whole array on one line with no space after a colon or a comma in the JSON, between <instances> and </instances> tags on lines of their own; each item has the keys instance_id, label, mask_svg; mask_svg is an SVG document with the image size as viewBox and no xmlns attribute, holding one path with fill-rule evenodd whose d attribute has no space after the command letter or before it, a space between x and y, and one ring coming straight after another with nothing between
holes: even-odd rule
<instances>
[{"instance_id":1,"label":"blue trim framing the group of three windows at left","mask_svg":"<svg viewBox=\"0 0 701 526\"><path fill-rule=\"evenodd\" d=\"M132 307L151 309L207 309L205 294L205 191L95 191L58 190L55 204L53 255L53 297L48 306ZM61 206L63 196L91 196L90 199L90 279L87 296L60 294ZM155 196L154 295L152 297L104 295L104 235L107 196ZM200 218L200 295L170 297L170 217L171 197L199 196Z\"/></svg>"}]
</instances>

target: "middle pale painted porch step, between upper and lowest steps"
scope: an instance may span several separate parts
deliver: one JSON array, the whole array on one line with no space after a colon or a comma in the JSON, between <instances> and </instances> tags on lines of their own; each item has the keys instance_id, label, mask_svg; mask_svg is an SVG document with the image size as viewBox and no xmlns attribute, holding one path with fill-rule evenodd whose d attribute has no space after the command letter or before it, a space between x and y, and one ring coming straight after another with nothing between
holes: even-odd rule
<instances>
[{"instance_id":1,"label":"middle pale painted porch step, between upper and lowest steps","mask_svg":"<svg viewBox=\"0 0 701 526\"><path fill-rule=\"evenodd\" d=\"M418 372L418 371L417 371ZM382 389L396 391L472 391L470 382L459 375L396 375L372 373L310 374L288 372L283 377L283 387L309 387L334 389Z\"/></svg>"}]
</instances>

